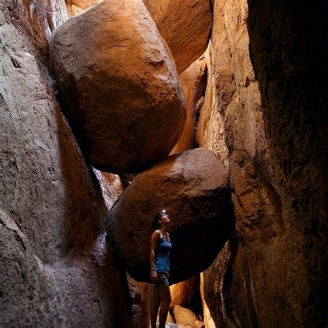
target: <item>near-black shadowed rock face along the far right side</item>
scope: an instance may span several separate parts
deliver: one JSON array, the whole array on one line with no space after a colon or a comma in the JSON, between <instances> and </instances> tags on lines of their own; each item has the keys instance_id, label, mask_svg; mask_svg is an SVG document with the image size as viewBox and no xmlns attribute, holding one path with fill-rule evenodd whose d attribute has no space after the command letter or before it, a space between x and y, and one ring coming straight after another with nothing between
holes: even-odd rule
<instances>
[{"instance_id":1,"label":"near-black shadowed rock face along the far right side","mask_svg":"<svg viewBox=\"0 0 328 328\"><path fill-rule=\"evenodd\" d=\"M250 51L288 232L280 251L287 307L277 311L278 322L327 326L328 3L275 1L271 15L273 1L248 2Z\"/></svg>"}]
</instances>

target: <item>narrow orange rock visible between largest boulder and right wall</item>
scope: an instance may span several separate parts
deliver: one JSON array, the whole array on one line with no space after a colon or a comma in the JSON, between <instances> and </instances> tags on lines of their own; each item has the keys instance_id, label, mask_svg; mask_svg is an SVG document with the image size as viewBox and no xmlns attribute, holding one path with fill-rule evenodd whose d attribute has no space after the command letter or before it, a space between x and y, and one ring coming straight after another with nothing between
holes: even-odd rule
<instances>
[{"instance_id":1,"label":"narrow orange rock visible between largest boulder and right wall","mask_svg":"<svg viewBox=\"0 0 328 328\"><path fill-rule=\"evenodd\" d=\"M179 76L185 94L187 118L179 141L172 149L171 155L181 154L185 150L194 147L195 111L197 110L198 101L205 94L206 89L207 69L205 57L202 56L196 62L193 62Z\"/></svg>"}]
</instances>

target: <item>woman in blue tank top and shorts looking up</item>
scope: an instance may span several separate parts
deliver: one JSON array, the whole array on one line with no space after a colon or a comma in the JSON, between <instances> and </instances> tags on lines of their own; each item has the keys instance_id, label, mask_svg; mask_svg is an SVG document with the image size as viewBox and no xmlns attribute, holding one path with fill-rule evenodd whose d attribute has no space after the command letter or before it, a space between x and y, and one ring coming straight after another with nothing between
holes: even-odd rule
<instances>
[{"instance_id":1,"label":"woman in blue tank top and shorts looking up","mask_svg":"<svg viewBox=\"0 0 328 328\"><path fill-rule=\"evenodd\" d=\"M168 278L170 273L170 250L172 248L167 225L169 216L161 210L154 217L153 228L156 230L150 239L150 277L154 282L152 300L151 325L156 328L156 318L159 311L159 328L165 328L167 313L171 302L171 293Z\"/></svg>"}]
</instances>

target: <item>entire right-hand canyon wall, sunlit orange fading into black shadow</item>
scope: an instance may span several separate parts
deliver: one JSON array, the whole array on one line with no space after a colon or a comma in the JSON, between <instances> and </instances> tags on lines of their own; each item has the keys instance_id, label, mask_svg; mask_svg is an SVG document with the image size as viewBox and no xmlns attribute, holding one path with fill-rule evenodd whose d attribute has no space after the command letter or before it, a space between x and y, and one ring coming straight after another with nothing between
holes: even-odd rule
<instances>
[{"instance_id":1,"label":"entire right-hand canyon wall, sunlit orange fading into black shadow","mask_svg":"<svg viewBox=\"0 0 328 328\"><path fill-rule=\"evenodd\" d=\"M237 221L236 237L203 274L206 302L217 327L319 327L327 319L326 5L213 6L197 138L228 166Z\"/></svg>"}]
</instances>

